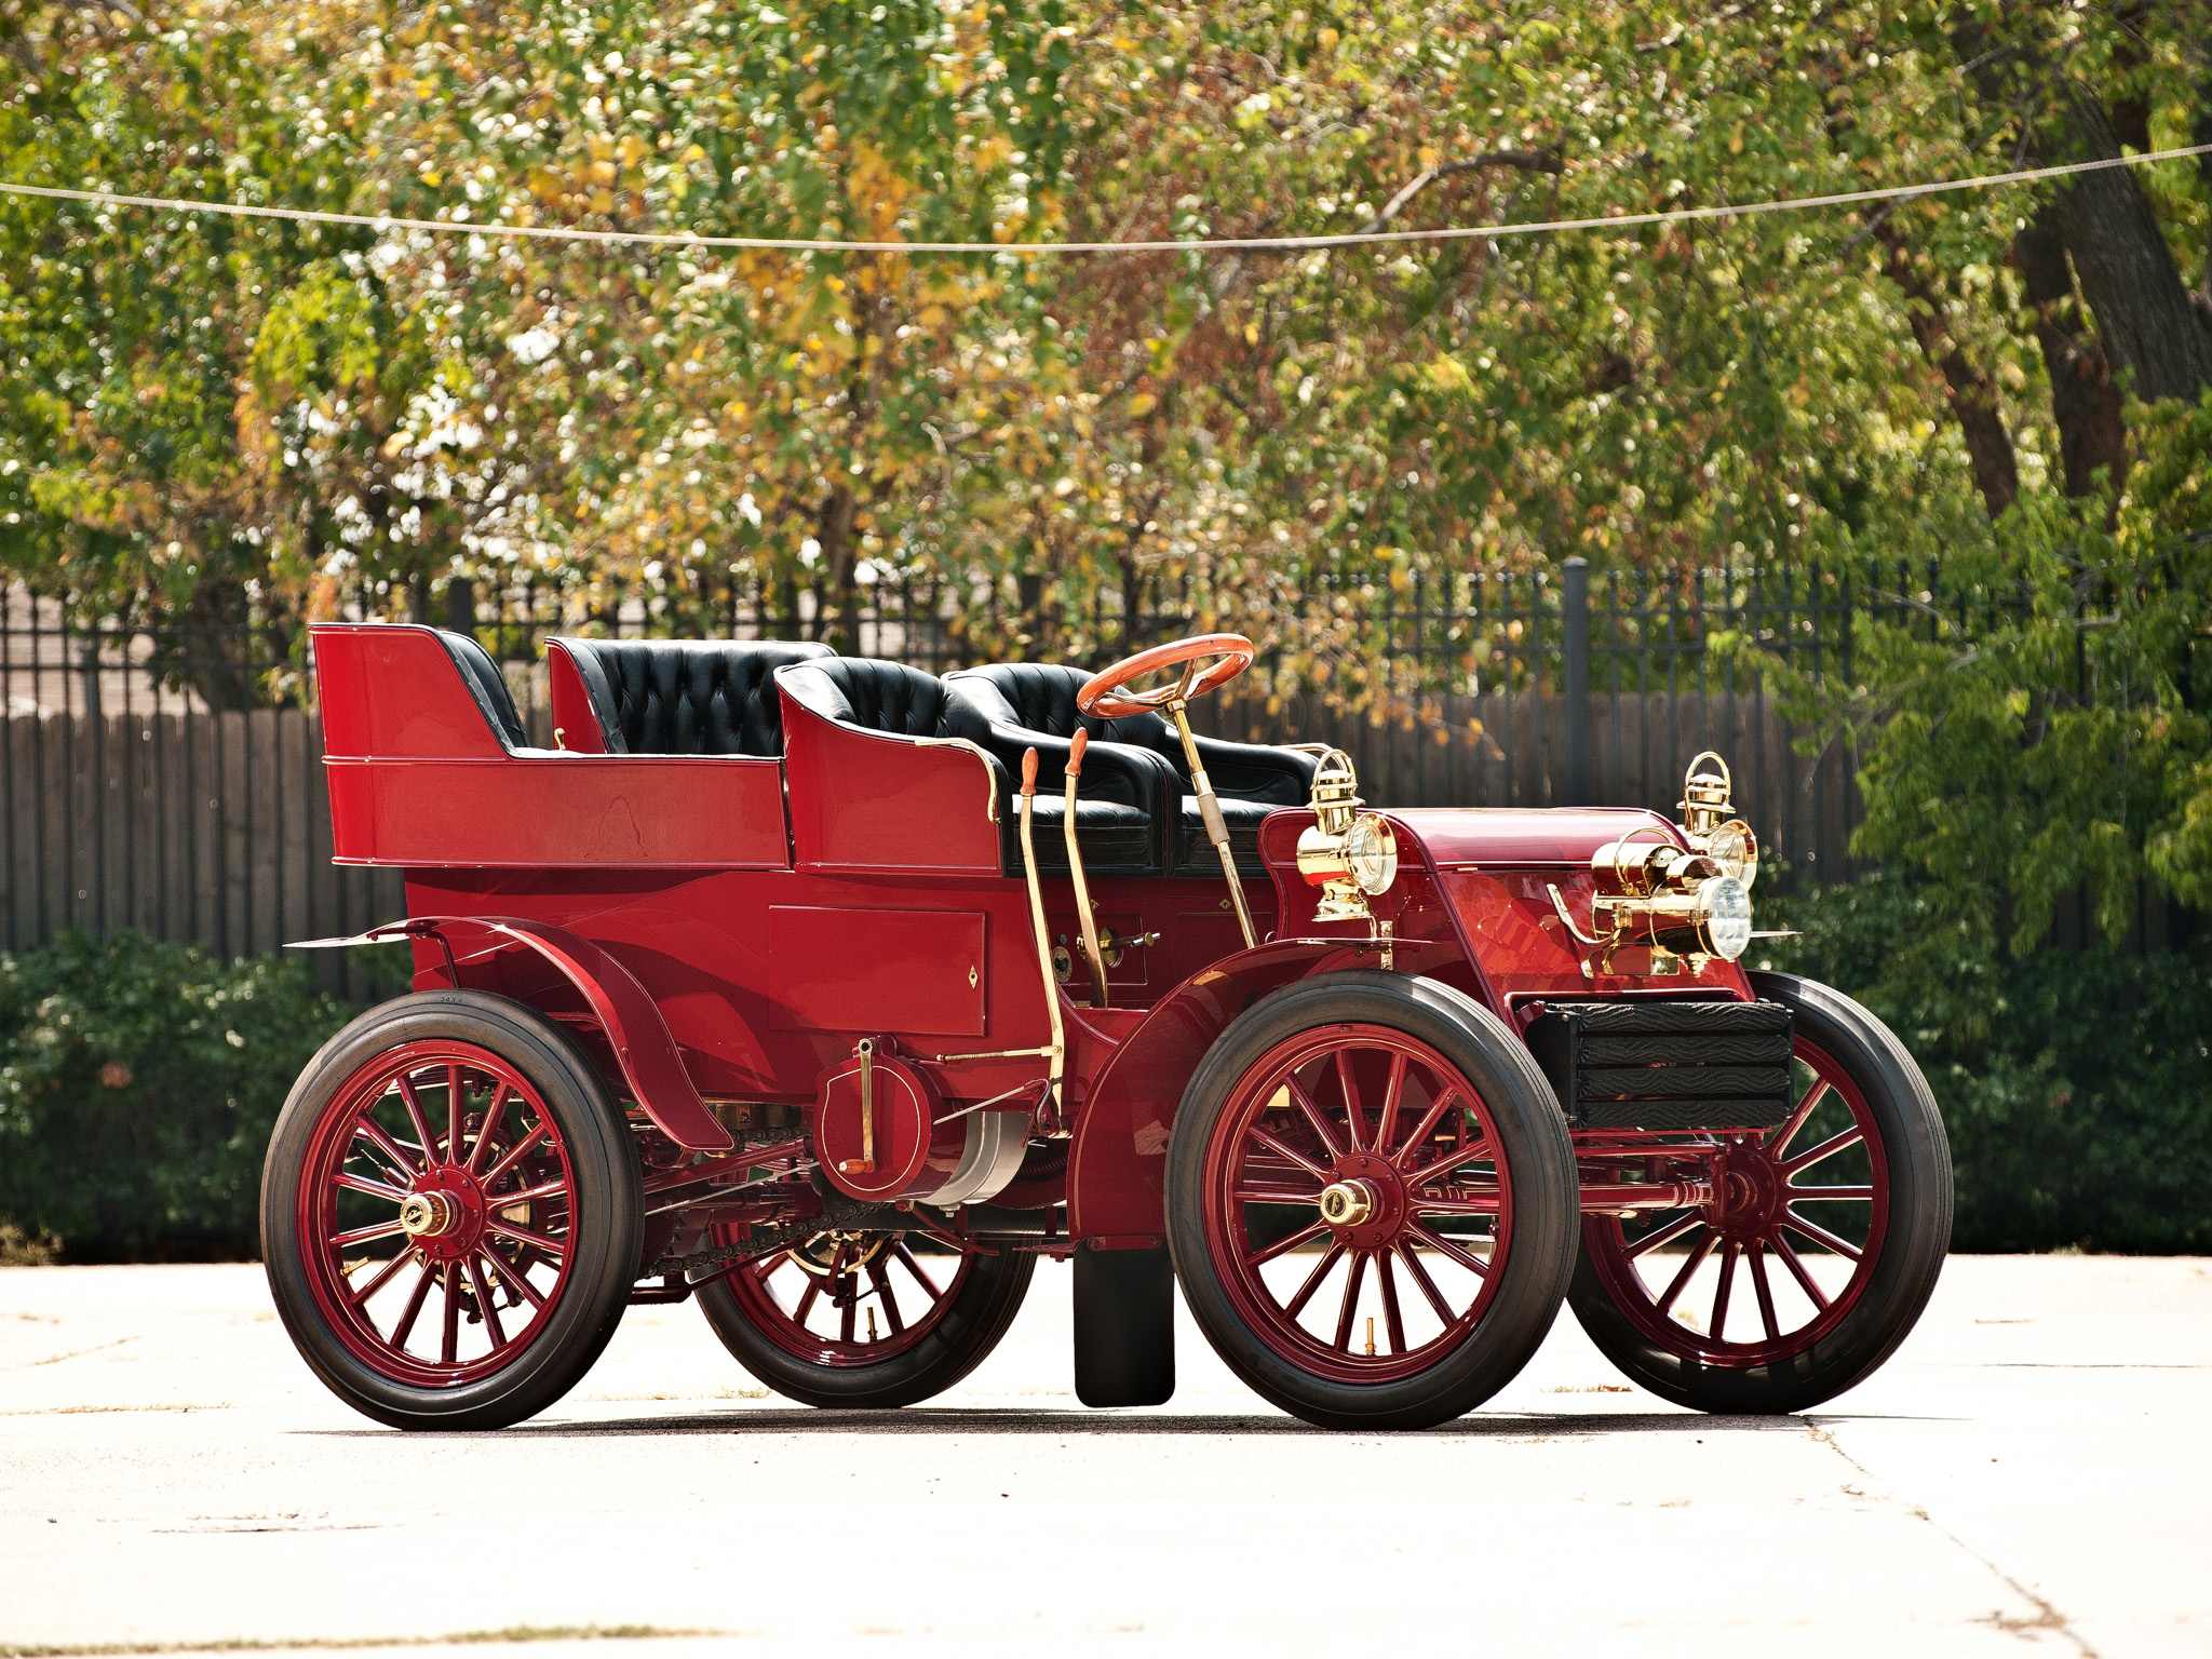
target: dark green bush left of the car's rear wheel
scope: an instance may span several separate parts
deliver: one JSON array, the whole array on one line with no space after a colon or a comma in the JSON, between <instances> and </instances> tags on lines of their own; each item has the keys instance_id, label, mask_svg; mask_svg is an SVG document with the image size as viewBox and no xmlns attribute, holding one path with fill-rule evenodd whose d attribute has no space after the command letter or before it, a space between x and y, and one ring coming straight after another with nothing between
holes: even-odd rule
<instances>
[{"instance_id":1,"label":"dark green bush left of the car's rear wheel","mask_svg":"<svg viewBox=\"0 0 2212 1659\"><path fill-rule=\"evenodd\" d=\"M250 1256L270 1126L352 1013L296 956L223 964L144 933L0 956L0 1237L64 1261Z\"/></svg>"}]
</instances>

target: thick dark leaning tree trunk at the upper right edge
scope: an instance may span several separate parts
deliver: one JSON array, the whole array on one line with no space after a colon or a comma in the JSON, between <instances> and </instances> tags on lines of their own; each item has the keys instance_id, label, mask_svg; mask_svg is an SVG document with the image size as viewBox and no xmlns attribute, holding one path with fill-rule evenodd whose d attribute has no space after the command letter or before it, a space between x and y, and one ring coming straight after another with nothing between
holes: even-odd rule
<instances>
[{"instance_id":1,"label":"thick dark leaning tree trunk at the upper right edge","mask_svg":"<svg viewBox=\"0 0 2212 1659\"><path fill-rule=\"evenodd\" d=\"M2068 88L2073 155L2119 155L2119 137L2095 97ZM2174 254L2159 230L2130 168L2077 175L2053 197L2048 212L2073 254L2081 296L2097 316L2097 334L2115 372L2132 374L2130 392L2154 403L2197 403L2212 385L2212 338L2197 321Z\"/></svg>"}]
</instances>

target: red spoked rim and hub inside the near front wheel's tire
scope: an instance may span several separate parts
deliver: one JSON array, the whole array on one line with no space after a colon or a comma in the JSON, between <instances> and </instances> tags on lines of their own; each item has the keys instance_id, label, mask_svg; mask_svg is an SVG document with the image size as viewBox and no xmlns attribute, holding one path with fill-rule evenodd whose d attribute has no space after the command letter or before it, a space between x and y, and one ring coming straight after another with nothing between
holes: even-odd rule
<instances>
[{"instance_id":1,"label":"red spoked rim and hub inside the near front wheel's tire","mask_svg":"<svg viewBox=\"0 0 2212 1659\"><path fill-rule=\"evenodd\" d=\"M1237 1082L1208 1146L1206 1223L1261 1340L1314 1376L1383 1383L1482 1318L1513 1194L1491 1113L1444 1055L1340 1024L1279 1042Z\"/></svg>"}]
</instances>

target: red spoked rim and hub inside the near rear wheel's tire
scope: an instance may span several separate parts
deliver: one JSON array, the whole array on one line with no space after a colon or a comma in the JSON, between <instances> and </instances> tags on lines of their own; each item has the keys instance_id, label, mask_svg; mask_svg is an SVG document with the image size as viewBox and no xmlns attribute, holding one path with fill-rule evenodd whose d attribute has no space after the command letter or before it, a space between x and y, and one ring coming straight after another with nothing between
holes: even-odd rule
<instances>
[{"instance_id":1,"label":"red spoked rim and hub inside the near rear wheel's tire","mask_svg":"<svg viewBox=\"0 0 2212 1659\"><path fill-rule=\"evenodd\" d=\"M451 1387L507 1365L568 1279L575 1175L531 1082L467 1042L369 1060L314 1128L296 1225L336 1338Z\"/></svg>"}]
</instances>

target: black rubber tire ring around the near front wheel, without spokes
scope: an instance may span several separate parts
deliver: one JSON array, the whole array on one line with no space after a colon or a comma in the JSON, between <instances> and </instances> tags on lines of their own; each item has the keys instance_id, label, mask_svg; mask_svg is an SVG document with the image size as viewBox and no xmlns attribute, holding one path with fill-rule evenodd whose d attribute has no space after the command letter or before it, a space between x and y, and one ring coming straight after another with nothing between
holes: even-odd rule
<instances>
[{"instance_id":1,"label":"black rubber tire ring around the near front wheel, without spokes","mask_svg":"<svg viewBox=\"0 0 2212 1659\"><path fill-rule=\"evenodd\" d=\"M1513 1181L1506 1276L1482 1323L1436 1365L1371 1385L1312 1376L1243 1323L1217 1274L1203 1214L1206 1148L1237 1079L1285 1037L1345 1022L1391 1026L1447 1055L1495 1117ZM1237 1376L1272 1405L1325 1429L1429 1429L1498 1394L1551 1332L1575 1272L1579 1237L1575 1148L1551 1084L1498 1015L1436 980L1354 969L1267 995L1214 1040L1175 1115L1168 1248L1183 1301Z\"/></svg>"}]
</instances>

